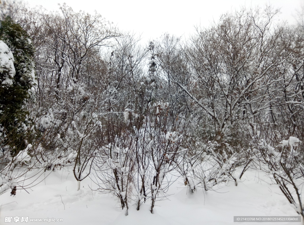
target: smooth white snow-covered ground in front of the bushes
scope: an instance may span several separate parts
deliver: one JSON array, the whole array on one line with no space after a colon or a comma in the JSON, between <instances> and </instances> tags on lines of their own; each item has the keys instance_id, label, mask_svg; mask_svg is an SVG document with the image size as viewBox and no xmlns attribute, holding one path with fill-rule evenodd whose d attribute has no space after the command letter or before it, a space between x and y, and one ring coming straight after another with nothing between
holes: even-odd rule
<instances>
[{"instance_id":1,"label":"smooth white snow-covered ground in front of the bushes","mask_svg":"<svg viewBox=\"0 0 304 225\"><path fill-rule=\"evenodd\" d=\"M59 224L64 225L247 224L234 223L233 216L298 216L278 186L269 185L267 177L255 171L247 171L242 178L244 181L238 182L238 186L230 182L215 187L214 191L198 190L194 194L187 193L182 180L178 180L169 189L168 194L172 195L156 203L154 214L150 213L148 202L141 206L140 211L136 211L136 206L130 206L128 216L112 195L92 191L89 186L94 186L94 183L90 178L82 181L81 190L77 191L77 181L67 168L47 171L45 176L45 180L27 189L29 193L17 190L16 196L10 196L9 191L0 196L0 224L25 223L5 223L8 216L62 218L63 222ZM28 220L26 224L46 223Z\"/></svg>"}]
</instances>

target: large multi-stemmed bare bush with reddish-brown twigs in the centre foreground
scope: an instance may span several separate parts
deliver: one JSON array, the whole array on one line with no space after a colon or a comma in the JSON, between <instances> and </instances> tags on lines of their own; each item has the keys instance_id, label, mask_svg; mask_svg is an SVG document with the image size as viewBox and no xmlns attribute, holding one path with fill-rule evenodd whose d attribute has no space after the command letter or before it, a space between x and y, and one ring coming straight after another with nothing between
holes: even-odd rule
<instances>
[{"instance_id":1,"label":"large multi-stemmed bare bush with reddish-brown twigs in the centre foreground","mask_svg":"<svg viewBox=\"0 0 304 225\"><path fill-rule=\"evenodd\" d=\"M171 183L169 173L187 153L186 124L183 118L169 118L168 106L150 104L144 115L128 109L109 115L103 125L104 145L95 158L99 190L117 196L122 208L136 203L139 210L149 199L153 213L155 201L166 195Z\"/></svg>"}]
</instances>

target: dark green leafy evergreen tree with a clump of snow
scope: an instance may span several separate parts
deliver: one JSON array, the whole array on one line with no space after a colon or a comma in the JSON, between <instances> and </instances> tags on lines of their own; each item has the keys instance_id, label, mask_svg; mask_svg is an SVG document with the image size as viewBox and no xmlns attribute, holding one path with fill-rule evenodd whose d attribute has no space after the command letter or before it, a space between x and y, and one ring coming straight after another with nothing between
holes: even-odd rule
<instances>
[{"instance_id":1,"label":"dark green leafy evergreen tree with a clump of snow","mask_svg":"<svg viewBox=\"0 0 304 225\"><path fill-rule=\"evenodd\" d=\"M27 105L36 83L33 44L10 17L0 26L0 148L15 156L27 145L30 119Z\"/></svg>"}]
</instances>

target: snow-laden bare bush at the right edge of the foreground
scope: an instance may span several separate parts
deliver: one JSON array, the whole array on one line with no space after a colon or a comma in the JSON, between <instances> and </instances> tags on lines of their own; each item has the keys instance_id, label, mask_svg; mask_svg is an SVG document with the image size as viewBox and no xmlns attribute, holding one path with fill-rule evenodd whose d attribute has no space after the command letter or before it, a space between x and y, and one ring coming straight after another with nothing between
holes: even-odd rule
<instances>
[{"instance_id":1,"label":"snow-laden bare bush at the right edge of the foreground","mask_svg":"<svg viewBox=\"0 0 304 225\"><path fill-rule=\"evenodd\" d=\"M302 141L289 137L276 145L263 138L256 139L255 165L266 172L292 204L295 211L304 216L304 148ZM272 143L275 144L275 143Z\"/></svg>"}]
</instances>

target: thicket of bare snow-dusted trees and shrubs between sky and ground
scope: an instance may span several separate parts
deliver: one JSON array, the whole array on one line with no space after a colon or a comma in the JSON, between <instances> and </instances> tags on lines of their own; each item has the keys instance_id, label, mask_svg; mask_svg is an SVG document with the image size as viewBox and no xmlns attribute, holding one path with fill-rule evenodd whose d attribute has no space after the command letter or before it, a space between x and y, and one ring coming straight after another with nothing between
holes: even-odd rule
<instances>
[{"instance_id":1,"label":"thicket of bare snow-dusted trees and shrubs between sky and ground","mask_svg":"<svg viewBox=\"0 0 304 225\"><path fill-rule=\"evenodd\" d=\"M277 13L241 9L185 42L142 46L99 14L3 2L1 19L32 39L37 84L26 159L0 136L0 185L13 188L7 166L69 166L78 189L93 174L126 214L145 202L153 213L176 174L196 192L256 169L304 216L304 27Z\"/></svg>"}]
</instances>

